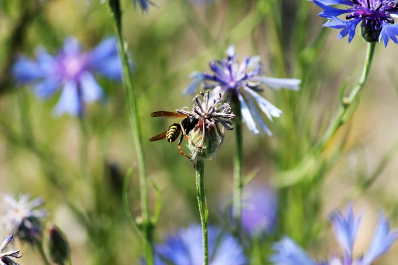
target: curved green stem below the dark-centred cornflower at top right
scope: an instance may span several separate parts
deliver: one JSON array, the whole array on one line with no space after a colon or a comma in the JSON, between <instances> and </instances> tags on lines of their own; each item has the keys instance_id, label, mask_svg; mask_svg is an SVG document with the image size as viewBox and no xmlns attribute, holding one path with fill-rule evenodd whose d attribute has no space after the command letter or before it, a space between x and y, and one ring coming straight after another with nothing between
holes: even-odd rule
<instances>
[{"instance_id":1,"label":"curved green stem below the dark-centred cornflower at top right","mask_svg":"<svg viewBox=\"0 0 398 265\"><path fill-rule=\"evenodd\" d=\"M366 51L365 63L363 65L362 74L356 83L355 87L352 89L350 95L347 98L343 99L343 104L340 105L338 112L335 114L333 120L330 122L329 127L325 131L325 134L319 140L319 142L315 146L315 154L321 152L326 145L329 143L330 139L334 136L335 132L346 123L351 117L352 113L355 111L356 106L358 105L360 91L365 84L366 79L369 75L369 70L371 68L373 55L375 52L376 43L368 43L368 49ZM351 115L347 117L347 114Z\"/></svg>"}]
</instances>

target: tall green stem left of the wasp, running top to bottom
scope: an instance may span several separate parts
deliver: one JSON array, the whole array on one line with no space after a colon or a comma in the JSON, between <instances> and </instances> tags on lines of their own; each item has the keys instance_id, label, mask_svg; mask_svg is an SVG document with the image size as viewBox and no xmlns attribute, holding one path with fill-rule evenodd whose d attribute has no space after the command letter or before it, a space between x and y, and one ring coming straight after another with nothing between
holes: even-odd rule
<instances>
[{"instance_id":1,"label":"tall green stem left of the wasp, running top to bottom","mask_svg":"<svg viewBox=\"0 0 398 265\"><path fill-rule=\"evenodd\" d=\"M131 71L129 65L129 57L127 53L127 44L123 41L122 29L121 29L121 6L119 0L109 0L109 8L112 14L112 20L115 27L115 34L118 45L118 52L123 64L123 87L127 95L127 105L129 110L129 119L131 128L133 131L134 145L136 148L138 169L139 169L139 185L140 185L140 201L142 210L142 234L143 234L143 245L146 257L147 265L154 264L154 253L152 246L152 230L153 224L149 216L148 207L148 190L146 186L146 172L145 172L145 160L144 153L142 150L142 130L141 123L139 120L138 104L136 89L133 86Z\"/></svg>"}]
</instances>

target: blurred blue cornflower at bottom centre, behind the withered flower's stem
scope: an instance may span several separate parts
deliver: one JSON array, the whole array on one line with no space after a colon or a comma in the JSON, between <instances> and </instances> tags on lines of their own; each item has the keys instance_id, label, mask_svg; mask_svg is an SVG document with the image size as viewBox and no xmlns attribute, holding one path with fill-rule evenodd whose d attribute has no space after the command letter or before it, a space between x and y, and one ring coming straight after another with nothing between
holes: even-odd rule
<instances>
[{"instance_id":1,"label":"blurred blue cornflower at bottom centre, behind the withered flower's stem","mask_svg":"<svg viewBox=\"0 0 398 265\"><path fill-rule=\"evenodd\" d=\"M209 265L247 265L249 262L238 241L221 228L210 226ZM202 228L192 225L166 237L155 245L156 265L201 265L203 263Z\"/></svg>"}]
</instances>

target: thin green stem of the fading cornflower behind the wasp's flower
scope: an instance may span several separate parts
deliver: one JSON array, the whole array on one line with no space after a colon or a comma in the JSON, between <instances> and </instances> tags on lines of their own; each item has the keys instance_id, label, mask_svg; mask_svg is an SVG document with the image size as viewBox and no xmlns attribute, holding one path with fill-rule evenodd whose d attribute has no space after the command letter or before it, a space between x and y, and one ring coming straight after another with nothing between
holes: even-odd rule
<instances>
[{"instance_id":1,"label":"thin green stem of the fading cornflower behind the wasp's flower","mask_svg":"<svg viewBox=\"0 0 398 265\"><path fill-rule=\"evenodd\" d=\"M241 222L242 214L242 163L243 163L243 134L242 134L242 114L240 112L240 106L235 104L234 108L235 118L235 132L236 132L236 151L234 156L234 192L233 192L233 207L232 217L234 220L235 228L238 229Z\"/></svg>"}]
</instances>

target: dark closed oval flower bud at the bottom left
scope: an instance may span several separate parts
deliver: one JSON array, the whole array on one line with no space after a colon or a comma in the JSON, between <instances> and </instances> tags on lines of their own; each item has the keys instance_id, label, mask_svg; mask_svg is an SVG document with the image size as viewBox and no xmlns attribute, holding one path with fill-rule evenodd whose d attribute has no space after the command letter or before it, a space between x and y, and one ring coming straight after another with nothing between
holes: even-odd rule
<instances>
[{"instance_id":1,"label":"dark closed oval flower bud at the bottom left","mask_svg":"<svg viewBox=\"0 0 398 265\"><path fill-rule=\"evenodd\" d=\"M47 229L47 251L52 262L65 264L70 259L69 242L59 227L51 224Z\"/></svg>"}]
</instances>

